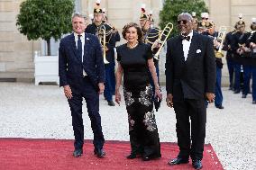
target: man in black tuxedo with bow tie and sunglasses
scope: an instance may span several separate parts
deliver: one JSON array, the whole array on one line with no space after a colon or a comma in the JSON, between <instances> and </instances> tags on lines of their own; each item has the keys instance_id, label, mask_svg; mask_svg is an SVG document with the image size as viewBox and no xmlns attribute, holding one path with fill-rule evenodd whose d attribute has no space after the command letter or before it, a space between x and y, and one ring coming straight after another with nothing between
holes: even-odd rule
<instances>
[{"instance_id":1,"label":"man in black tuxedo with bow tie and sunglasses","mask_svg":"<svg viewBox=\"0 0 256 170\"><path fill-rule=\"evenodd\" d=\"M189 13L179 14L180 35L167 42L166 102L176 113L179 147L178 157L169 165L186 164L190 156L192 166L201 169L206 137L205 101L214 102L216 68L213 40L192 31L192 19Z\"/></svg>"}]
</instances>

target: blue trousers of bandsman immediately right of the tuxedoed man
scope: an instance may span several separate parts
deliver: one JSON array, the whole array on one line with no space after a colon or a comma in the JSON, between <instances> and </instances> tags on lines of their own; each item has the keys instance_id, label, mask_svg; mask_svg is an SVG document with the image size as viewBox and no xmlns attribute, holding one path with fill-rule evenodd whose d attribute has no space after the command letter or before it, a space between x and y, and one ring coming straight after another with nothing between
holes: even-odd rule
<instances>
[{"instance_id":1,"label":"blue trousers of bandsman immediately right of the tuxedoed man","mask_svg":"<svg viewBox=\"0 0 256 170\"><path fill-rule=\"evenodd\" d=\"M216 67L215 106L223 105L222 68Z\"/></svg>"}]
</instances>

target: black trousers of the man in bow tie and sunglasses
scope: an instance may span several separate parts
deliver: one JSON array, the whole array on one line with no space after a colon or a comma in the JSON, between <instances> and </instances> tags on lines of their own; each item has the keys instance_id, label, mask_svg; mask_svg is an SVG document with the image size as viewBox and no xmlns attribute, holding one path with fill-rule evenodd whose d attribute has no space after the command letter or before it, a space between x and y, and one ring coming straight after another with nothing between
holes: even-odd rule
<instances>
[{"instance_id":1,"label":"black trousers of the man in bow tie and sunglasses","mask_svg":"<svg viewBox=\"0 0 256 170\"><path fill-rule=\"evenodd\" d=\"M176 113L176 131L178 137L178 157L202 159L206 138L205 99L184 99L173 101ZM191 120L191 135L190 122ZM192 141L192 144L191 144Z\"/></svg>"}]
</instances>

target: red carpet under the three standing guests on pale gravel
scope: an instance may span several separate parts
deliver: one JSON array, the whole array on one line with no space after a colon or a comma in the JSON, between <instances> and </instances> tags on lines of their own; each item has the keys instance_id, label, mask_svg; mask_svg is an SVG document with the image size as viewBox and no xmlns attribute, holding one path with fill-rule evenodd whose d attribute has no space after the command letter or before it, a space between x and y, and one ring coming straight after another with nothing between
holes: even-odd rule
<instances>
[{"instance_id":1,"label":"red carpet under the three standing guests on pale gravel","mask_svg":"<svg viewBox=\"0 0 256 170\"><path fill-rule=\"evenodd\" d=\"M129 142L106 141L106 157L99 159L93 155L93 144L85 142L84 155L72 157L73 140L64 139L0 139L1 170L73 170L73 169L193 169L191 161L186 165L169 166L170 158L178 155L174 143L161 143L162 157L143 162L140 158L126 159L130 152ZM203 169L224 169L211 145L206 145Z\"/></svg>"}]
</instances>

